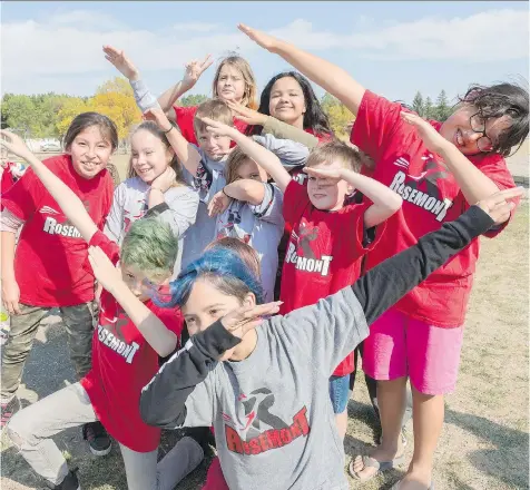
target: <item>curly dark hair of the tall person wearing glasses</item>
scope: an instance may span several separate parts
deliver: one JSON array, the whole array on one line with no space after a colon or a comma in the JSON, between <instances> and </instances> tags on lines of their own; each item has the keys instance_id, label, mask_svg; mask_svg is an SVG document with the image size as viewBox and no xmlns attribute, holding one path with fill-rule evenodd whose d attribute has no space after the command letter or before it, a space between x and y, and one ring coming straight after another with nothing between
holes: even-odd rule
<instances>
[{"instance_id":1,"label":"curly dark hair of the tall person wearing glasses","mask_svg":"<svg viewBox=\"0 0 530 490\"><path fill-rule=\"evenodd\" d=\"M501 131L492 151L504 157L516 153L528 137L528 89L514 84L497 84L492 86L472 85L459 100L477 107L481 118L497 119L509 116L511 125Z\"/></svg>"}]
</instances>

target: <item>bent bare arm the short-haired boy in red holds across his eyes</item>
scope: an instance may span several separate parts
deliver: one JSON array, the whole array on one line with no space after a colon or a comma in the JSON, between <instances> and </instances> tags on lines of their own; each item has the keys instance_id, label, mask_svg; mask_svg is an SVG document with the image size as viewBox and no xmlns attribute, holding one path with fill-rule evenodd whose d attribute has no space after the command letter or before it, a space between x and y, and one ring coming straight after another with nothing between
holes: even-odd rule
<instances>
[{"instance_id":1,"label":"bent bare arm the short-haired boy in red holds across his eyes","mask_svg":"<svg viewBox=\"0 0 530 490\"><path fill-rule=\"evenodd\" d=\"M306 167L304 170L313 177L346 180L361 190L373 203L364 212L365 228L377 226L390 218L403 203L401 196L384 184L346 168L327 170Z\"/></svg>"}]
</instances>

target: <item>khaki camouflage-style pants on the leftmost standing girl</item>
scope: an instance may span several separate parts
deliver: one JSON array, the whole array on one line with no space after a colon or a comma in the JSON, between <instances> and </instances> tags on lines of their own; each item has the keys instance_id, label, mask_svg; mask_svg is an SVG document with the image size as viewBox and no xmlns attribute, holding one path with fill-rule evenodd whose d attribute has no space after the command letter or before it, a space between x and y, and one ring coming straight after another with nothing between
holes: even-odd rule
<instances>
[{"instance_id":1,"label":"khaki camouflage-style pants on the leftmost standing girl","mask_svg":"<svg viewBox=\"0 0 530 490\"><path fill-rule=\"evenodd\" d=\"M20 304L20 314L12 315L9 339L2 347L2 373L0 399L11 400L20 385L22 371L28 359L40 322L51 307ZM78 379L84 378L91 366L92 333L97 318L92 302L59 308L68 333L70 360Z\"/></svg>"}]
</instances>

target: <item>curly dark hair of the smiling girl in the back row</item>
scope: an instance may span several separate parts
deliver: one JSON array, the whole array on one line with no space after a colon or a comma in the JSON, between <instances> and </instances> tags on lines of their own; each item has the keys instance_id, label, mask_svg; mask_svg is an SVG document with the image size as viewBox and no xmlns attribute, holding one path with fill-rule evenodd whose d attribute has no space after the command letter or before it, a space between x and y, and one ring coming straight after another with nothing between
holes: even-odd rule
<instances>
[{"instance_id":1,"label":"curly dark hair of the smiling girl in the back row","mask_svg":"<svg viewBox=\"0 0 530 490\"><path fill-rule=\"evenodd\" d=\"M259 99L258 112L271 116L268 110L268 104L271 101L271 90L276 80L281 78L291 77L294 78L304 92L304 100L306 111L304 114L304 129L312 129L315 135L333 135L333 130L330 126L330 120L327 119L326 114L322 109L321 102L316 98L316 95L313 90L313 87L310 84L310 80L298 74L297 71L283 71L268 80L268 84L262 91L262 97ZM249 126L247 129L247 135L259 135L262 133L263 126Z\"/></svg>"}]
</instances>

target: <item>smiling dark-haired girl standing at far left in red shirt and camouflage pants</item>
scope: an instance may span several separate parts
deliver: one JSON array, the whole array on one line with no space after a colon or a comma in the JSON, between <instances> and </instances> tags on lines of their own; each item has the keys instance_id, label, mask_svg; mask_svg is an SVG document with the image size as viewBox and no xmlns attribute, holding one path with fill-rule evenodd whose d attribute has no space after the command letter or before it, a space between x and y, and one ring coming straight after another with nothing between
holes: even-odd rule
<instances>
[{"instance_id":1,"label":"smiling dark-haired girl standing at far left in red shirt and camouflage pants","mask_svg":"<svg viewBox=\"0 0 530 490\"><path fill-rule=\"evenodd\" d=\"M72 120L63 143L66 153L45 165L82 200L101 229L112 202L112 179L105 167L118 146L116 126L106 116L84 112ZM3 427L20 408L16 393L47 313L53 307L61 312L79 379L90 370L95 318L94 277L82 270L87 244L31 169L2 195L2 302L11 315L11 331L2 350ZM85 425L84 435L92 452L110 450L99 423Z\"/></svg>"}]
</instances>

